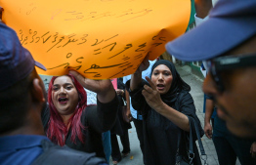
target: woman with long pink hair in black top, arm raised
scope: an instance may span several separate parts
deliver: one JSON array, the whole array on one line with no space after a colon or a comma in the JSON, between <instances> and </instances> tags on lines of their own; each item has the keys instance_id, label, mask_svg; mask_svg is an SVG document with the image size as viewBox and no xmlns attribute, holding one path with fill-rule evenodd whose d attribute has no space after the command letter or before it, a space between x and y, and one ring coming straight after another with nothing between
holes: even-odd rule
<instances>
[{"instance_id":1,"label":"woman with long pink hair in black top, arm raised","mask_svg":"<svg viewBox=\"0 0 256 165\"><path fill-rule=\"evenodd\" d=\"M84 88L97 93L97 105L87 105ZM105 158L102 133L113 126L118 100L110 80L92 80L75 71L54 76L49 84L48 107L42 112L47 137Z\"/></svg>"}]
</instances>

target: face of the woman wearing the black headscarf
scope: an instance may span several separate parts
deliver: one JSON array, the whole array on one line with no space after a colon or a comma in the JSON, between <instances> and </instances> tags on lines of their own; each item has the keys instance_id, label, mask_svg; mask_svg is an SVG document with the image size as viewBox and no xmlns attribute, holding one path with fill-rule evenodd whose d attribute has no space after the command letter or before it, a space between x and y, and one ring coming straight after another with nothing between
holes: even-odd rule
<instances>
[{"instance_id":1,"label":"face of the woman wearing the black headscarf","mask_svg":"<svg viewBox=\"0 0 256 165\"><path fill-rule=\"evenodd\" d=\"M156 86L160 95L166 94L169 91L172 80L172 72L166 65L159 64L153 69L151 81Z\"/></svg>"}]
</instances>

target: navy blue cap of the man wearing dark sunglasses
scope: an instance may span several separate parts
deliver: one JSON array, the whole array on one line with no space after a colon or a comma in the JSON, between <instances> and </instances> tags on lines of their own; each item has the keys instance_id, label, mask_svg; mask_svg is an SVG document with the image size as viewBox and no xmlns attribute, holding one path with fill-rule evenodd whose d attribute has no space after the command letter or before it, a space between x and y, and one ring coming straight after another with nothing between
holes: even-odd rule
<instances>
[{"instance_id":1,"label":"navy blue cap of the man wearing dark sunglasses","mask_svg":"<svg viewBox=\"0 0 256 165\"><path fill-rule=\"evenodd\" d=\"M203 61L232 50L255 34L256 0L219 0L207 21L165 48L181 61Z\"/></svg>"}]
</instances>

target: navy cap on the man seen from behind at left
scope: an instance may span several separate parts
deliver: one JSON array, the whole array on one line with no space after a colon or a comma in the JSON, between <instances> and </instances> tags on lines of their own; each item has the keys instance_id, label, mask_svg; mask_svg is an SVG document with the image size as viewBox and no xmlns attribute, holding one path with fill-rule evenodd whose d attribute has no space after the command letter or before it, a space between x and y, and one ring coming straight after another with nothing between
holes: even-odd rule
<instances>
[{"instance_id":1,"label":"navy cap on the man seen from behind at left","mask_svg":"<svg viewBox=\"0 0 256 165\"><path fill-rule=\"evenodd\" d=\"M21 46L16 32L0 22L0 91L28 76L35 65L46 70Z\"/></svg>"}]
</instances>

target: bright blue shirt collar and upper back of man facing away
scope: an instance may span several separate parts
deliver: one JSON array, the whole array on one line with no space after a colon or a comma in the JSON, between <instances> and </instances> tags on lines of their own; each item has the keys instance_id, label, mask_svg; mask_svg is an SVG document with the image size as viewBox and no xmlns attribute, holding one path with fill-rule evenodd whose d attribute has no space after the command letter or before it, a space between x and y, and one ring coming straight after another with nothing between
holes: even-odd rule
<instances>
[{"instance_id":1,"label":"bright blue shirt collar and upper back of man facing away","mask_svg":"<svg viewBox=\"0 0 256 165\"><path fill-rule=\"evenodd\" d=\"M0 137L0 164L31 164L42 152L39 135L16 135Z\"/></svg>"}]
</instances>

